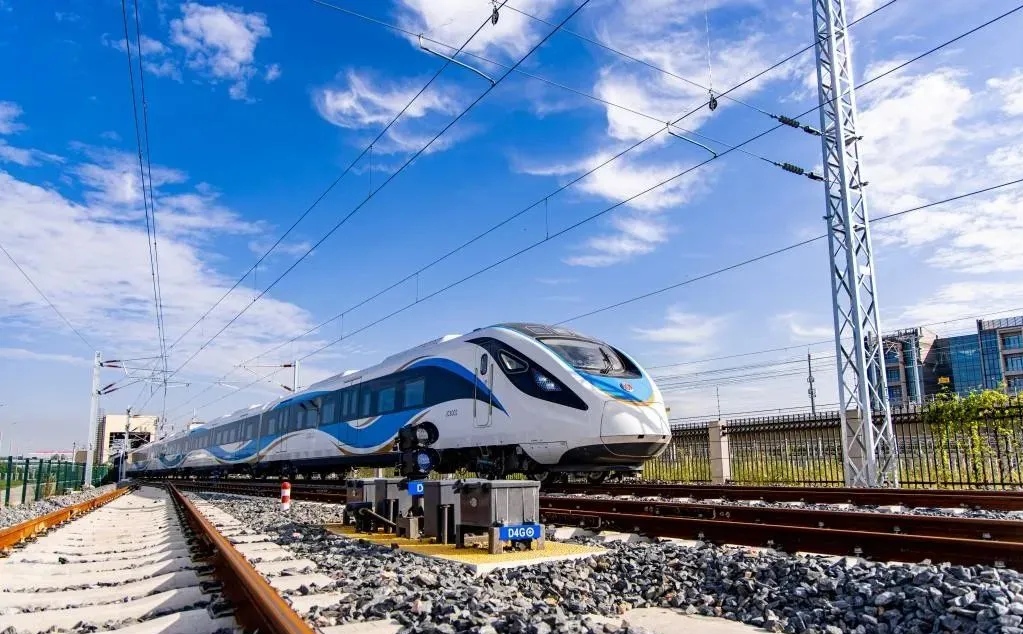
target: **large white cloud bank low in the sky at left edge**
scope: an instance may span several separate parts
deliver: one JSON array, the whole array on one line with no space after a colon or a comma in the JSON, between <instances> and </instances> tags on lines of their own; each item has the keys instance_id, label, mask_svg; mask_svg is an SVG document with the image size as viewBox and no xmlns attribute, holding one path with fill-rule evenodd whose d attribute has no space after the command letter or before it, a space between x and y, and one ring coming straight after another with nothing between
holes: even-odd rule
<instances>
[{"instance_id":1,"label":"large white cloud bank low in the sky at left edge","mask_svg":"<svg viewBox=\"0 0 1023 634\"><path fill-rule=\"evenodd\" d=\"M117 350L119 356L148 356L158 345L145 224L139 196L131 192L130 178L122 171L126 163L130 164L130 156L99 148L85 149L86 162L69 170L70 175L81 179L81 199L0 170L0 218L4 219L0 223L0 242L66 318L97 346ZM165 320L173 337L230 287L233 279L217 272L213 263L219 260L230 234L252 232L256 225L217 203L209 186L186 188L183 172L153 166L153 177L161 223ZM207 242L214 240L218 250L211 251ZM172 367L247 307L257 291L242 284L231 293L173 351ZM44 333L45 341L56 346L55 350L44 347L31 353L7 347L0 349L0 357L81 361L61 351L60 334L71 336L66 327L6 259L0 261L0 314L5 315L4 330L11 338ZM196 357L185 373L222 374L238 361L254 357L282 337L309 329L313 323L312 316L300 307L265 297ZM294 358L323 343L310 337L279 354ZM329 358L333 355L317 360ZM312 365L303 369L309 376L325 373L324 368ZM183 398L172 395L172 399L175 397ZM220 404L218 409L225 407Z\"/></svg>"}]
</instances>

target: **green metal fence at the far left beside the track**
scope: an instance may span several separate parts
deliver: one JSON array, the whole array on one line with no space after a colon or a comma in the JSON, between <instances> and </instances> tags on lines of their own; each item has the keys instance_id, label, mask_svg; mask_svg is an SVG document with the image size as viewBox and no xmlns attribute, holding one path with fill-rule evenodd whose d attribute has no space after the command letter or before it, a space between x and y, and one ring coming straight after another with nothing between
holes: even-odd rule
<instances>
[{"instance_id":1,"label":"green metal fence at the far left beside the track","mask_svg":"<svg viewBox=\"0 0 1023 634\"><path fill-rule=\"evenodd\" d=\"M92 469L92 484L98 486L108 467ZM0 457L0 506L28 504L82 487L85 465L60 459Z\"/></svg>"}]
</instances>

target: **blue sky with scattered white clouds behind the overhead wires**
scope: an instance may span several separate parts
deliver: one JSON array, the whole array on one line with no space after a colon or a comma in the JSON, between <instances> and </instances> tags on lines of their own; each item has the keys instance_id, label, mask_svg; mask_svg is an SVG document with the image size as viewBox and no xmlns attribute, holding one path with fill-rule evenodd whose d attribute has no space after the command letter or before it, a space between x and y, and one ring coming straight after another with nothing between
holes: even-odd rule
<instances>
[{"instance_id":1,"label":"blue sky with scattered white clouds behind the overhead wires","mask_svg":"<svg viewBox=\"0 0 1023 634\"><path fill-rule=\"evenodd\" d=\"M459 46L487 18L485 0L395 0L338 6ZM879 6L850 2L853 16ZM724 90L805 46L809 2L593 0L573 33L698 84ZM510 0L551 24L566 0ZM898 0L853 30L856 77L868 79L1013 8ZM465 58L498 78L550 27L505 7ZM129 11L133 4L129 2ZM313 2L140 0L142 61L165 323L178 338L337 179L443 64L415 38ZM129 13L132 18L133 13ZM870 207L880 215L1018 178L1023 169L1023 49L1017 13L864 88L857 95ZM708 69L708 27L710 35ZM0 0L0 243L104 358L159 352L121 3L56 6ZM133 61L134 25L131 30ZM496 62L496 63L494 63ZM503 65L503 67L502 67ZM559 33L502 80L331 237L255 304L253 299L369 191L489 86L451 65L296 230L170 354L172 369L247 312L174 376L168 417L181 425L260 402L304 357L399 308L704 161L663 132L706 91ZM137 66L135 86L139 89ZM816 104L812 54L735 96L770 112ZM141 112L141 109L139 109ZM816 114L805 123L819 125ZM722 100L680 126L722 150L772 126ZM416 280L339 322L237 367L416 271L590 167L662 130L578 184ZM713 139L713 140L708 140ZM748 149L818 170L815 137L780 130ZM1020 188L875 227L882 325L943 322L1023 307ZM732 152L526 254L365 328L303 361L303 381L372 364L449 332L511 320L559 322L785 246L824 230L818 183ZM1023 312L1023 311L1016 311ZM721 368L815 362L819 402L835 402L828 256L815 242L569 325L604 337L657 373L687 374L672 415L802 406L805 377L771 366L757 380ZM811 346L812 345L812 346ZM793 347L762 355L752 351ZM696 363L702 359L744 355ZM85 438L87 347L0 258L0 431L4 447L63 449ZM151 364L140 361L135 365ZM740 370L746 371L746 370ZM140 374L141 373L137 373ZM129 382L103 370L102 383ZM147 401L137 383L107 411ZM159 414L158 394L144 406ZM209 405L207 405L209 404ZM205 407L204 407L205 406ZM138 411L138 410L136 410Z\"/></svg>"}]
</instances>

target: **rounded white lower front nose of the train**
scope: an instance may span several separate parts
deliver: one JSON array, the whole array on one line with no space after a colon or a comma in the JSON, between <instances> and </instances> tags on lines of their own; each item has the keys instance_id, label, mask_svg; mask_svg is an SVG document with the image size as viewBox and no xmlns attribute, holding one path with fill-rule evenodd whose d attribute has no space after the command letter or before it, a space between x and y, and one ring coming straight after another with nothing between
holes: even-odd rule
<instances>
[{"instance_id":1,"label":"rounded white lower front nose of the train","mask_svg":"<svg viewBox=\"0 0 1023 634\"><path fill-rule=\"evenodd\" d=\"M664 405L606 401L601 417L601 441L616 456L646 459L659 455L671 441Z\"/></svg>"}]
</instances>

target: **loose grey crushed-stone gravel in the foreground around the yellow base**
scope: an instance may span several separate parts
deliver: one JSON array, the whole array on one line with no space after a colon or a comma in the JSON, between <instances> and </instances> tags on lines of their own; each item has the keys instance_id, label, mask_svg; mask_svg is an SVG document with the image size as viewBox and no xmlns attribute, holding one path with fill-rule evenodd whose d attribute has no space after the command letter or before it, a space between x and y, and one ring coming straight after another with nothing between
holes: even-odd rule
<instances>
[{"instance_id":1,"label":"loose grey crushed-stone gravel in the foreground around the yellow base","mask_svg":"<svg viewBox=\"0 0 1023 634\"><path fill-rule=\"evenodd\" d=\"M983 567L887 565L853 558L750 553L671 542L601 544L609 554L495 571L461 567L330 535L340 507L207 494L253 529L276 534L350 593L317 625L390 617L404 632L605 632L586 615L662 606L776 632L1023 634L1023 576ZM585 543L587 540L573 540ZM610 630L626 632L627 630ZM636 632L636 629L628 630Z\"/></svg>"}]
</instances>

